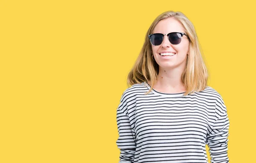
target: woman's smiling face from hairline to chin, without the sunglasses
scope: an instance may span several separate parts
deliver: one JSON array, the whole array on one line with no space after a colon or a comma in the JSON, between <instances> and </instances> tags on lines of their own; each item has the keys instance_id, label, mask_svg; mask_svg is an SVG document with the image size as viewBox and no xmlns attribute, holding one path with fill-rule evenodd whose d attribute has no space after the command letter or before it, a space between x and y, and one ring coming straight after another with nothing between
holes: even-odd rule
<instances>
[{"instance_id":1,"label":"woman's smiling face from hairline to chin, without the sunglasses","mask_svg":"<svg viewBox=\"0 0 256 163\"><path fill-rule=\"evenodd\" d=\"M153 34L169 34L170 32L184 33L182 24L172 17L160 20L153 30ZM153 46L151 44L151 46L154 54L154 60L156 60L157 64L159 65L159 70L185 68L186 58L189 52L189 39L185 35L181 37L181 42L177 45L170 43L168 36L165 35L161 45ZM174 55L161 56L161 53L163 52L172 52L171 55Z\"/></svg>"}]
</instances>

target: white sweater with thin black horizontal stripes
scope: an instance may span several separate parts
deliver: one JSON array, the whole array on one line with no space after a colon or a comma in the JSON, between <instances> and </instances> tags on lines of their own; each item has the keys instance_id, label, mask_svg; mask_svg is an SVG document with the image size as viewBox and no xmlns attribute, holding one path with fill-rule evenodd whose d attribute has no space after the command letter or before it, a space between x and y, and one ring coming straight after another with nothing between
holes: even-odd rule
<instances>
[{"instance_id":1,"label":"white sweater with thin black horizontal stripes","mask_svg":"<svg viewBox=\"0 0 256 163\"><path fill-rule=\"evenodd\" d=\"M116 112L119 163L229 163L229 119L221 95L207 86L184 96L134 84Z\"/></svg>"}]
</instances>

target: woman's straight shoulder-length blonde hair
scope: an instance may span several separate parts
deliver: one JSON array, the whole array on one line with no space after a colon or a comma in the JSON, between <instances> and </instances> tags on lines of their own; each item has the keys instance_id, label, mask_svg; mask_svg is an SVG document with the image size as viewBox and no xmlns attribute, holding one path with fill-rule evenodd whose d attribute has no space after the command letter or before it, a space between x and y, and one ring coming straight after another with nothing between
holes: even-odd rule
<instances>
[{"instance_id":1,"label":"woman's straight shoulder-length blonde hair","mask_svg":"<svg viewBox=\"0 0 256 163\"><path fill-rule=\"evenodd\" d=\"M189 57L186 60L186 67L182 74L182 83L186 87L184 95L199 92L205 89L207 86L208 72L204 64L203 57L201 55L200 46L198 43L198 37L195 32L195 28L191 21L182 13L175 11L166 11L160 14L149 27L144 45L140 51L140 54L128 74L128 85L134 85L137 83L143 83L151 81L151 89L146 93L148 94L154 84L157 82L157 75L159 72L158 64L152 59L152 48L148 35L152 34L155 26L160 20L173 17L178 20L184 27L185 33L189 37Z\"/></svg>"}]
</instances>

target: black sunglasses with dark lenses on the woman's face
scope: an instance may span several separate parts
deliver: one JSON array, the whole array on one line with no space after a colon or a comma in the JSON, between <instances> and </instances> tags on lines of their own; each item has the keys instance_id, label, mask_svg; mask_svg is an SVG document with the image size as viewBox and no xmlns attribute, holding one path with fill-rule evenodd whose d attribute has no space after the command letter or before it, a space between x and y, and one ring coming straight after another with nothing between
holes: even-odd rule
<instances>
[{"instance_id":1,"label":"black sunglasses with dark lenses on the woman's face","mask_svg":"<svg viewBox=\"0 0 256 163\"><path fill-rule=\"evenodd\" d=\"M161 34L161 33L150 34L150 35L148 35L148 38L152 45L157 46L157 45L161 45L161 43L163 42L164 35L167 35L170 43L172 43L174 45L177 45L181 42L181 37L183 35L188 37L185 33L171 32L169 34Z\"/></svg>"}]
</instances>

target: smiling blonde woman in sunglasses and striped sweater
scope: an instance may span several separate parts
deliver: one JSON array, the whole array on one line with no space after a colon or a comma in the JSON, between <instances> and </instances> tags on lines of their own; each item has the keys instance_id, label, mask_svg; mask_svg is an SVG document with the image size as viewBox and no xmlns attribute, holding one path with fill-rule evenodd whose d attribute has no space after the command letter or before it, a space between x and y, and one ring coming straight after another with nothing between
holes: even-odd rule
<instances>
[{"instance_id":1,"label":"smiling blonde woman in sunglasses and striped sweater","mask_svg":"<svg viewBox=\"0 0 256 163\"><path fill-rule=\"evenodd\" d=\"M193 24L181 12L160 14L128 74L117 108L119 163L228 163L229 119L207 86Z\"/></svg>"}]
</instances>

